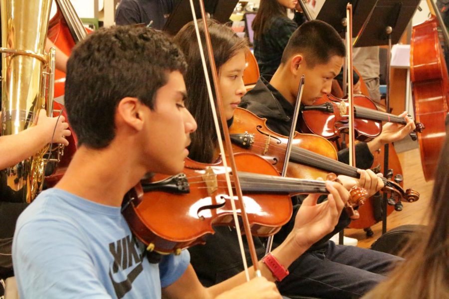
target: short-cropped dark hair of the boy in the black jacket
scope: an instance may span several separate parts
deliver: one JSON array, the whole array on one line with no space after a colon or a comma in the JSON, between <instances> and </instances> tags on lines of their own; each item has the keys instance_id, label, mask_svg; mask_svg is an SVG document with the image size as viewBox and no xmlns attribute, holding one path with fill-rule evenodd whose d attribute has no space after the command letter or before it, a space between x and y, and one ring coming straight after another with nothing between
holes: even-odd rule
<instances>
[{"instance_id":1,"label":"short-cropped dark hair of the boy in the black jacket","mask_svg":"<svg viewBox=\"0 0 449 299\"><path fill-rule=\"evenodd\" d=\"M285 46L281 64L301 53L308 67L326 64L332 56L345 57L346 47L337 31L328 23L313 20L303 23L293 32Z\"/></svg>"}]
</instances>

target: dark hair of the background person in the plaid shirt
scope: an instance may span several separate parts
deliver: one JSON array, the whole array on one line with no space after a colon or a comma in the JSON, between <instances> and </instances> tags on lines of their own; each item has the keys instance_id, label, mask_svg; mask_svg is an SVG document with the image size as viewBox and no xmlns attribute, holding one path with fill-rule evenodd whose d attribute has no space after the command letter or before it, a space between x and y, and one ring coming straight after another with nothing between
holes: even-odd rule
<instances>
[{"instance_id":1,"label":"dark hair of the background person in the plaid shirt","mask_svg":"<svg viewBox=\"0 0 449 299\"><path fill-rule=\"evenodd\" d=\"M287 8L277 0L260 0L259 9L252 21L254 37L258 38L270 26L271 20L276 16L287 17Z\"/></svg>"}]
</instances>

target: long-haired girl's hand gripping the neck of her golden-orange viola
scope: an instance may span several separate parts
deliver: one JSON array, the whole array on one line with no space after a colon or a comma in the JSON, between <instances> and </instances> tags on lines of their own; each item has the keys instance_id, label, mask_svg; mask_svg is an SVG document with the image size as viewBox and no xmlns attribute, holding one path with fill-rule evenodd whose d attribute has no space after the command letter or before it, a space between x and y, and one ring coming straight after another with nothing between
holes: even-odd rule
<instances>
[{"instance_id":1,"label":"long-haired girl's hand gripping the neck of her golden-orange viola","mask_svg":"<svg viewBox=\"0 0 449 299\"><path fill-rule=\"evenodd\" d=\"M359 179L339 175L338 180L347 190L350 190L354 186L366 189L369 197L384 187L384 182L381 179L382 173L376 174L371 169L359 169L357 172L360 174Z\"/></svg>"}]
</instances>

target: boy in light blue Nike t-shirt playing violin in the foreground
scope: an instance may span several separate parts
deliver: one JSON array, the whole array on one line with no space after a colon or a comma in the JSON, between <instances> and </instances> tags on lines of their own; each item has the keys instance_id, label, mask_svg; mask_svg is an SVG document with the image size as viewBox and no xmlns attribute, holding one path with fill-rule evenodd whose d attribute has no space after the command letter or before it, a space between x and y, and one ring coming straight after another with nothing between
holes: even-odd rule
<instances>
[{"instance_id":1,"label":"boy in light blue Nike t-shirt playing violin in the foreground","mask_svg":"<svg viewBox=\"0 0 449 299\"><path fill-rule=\"evenodd\" d=\"M21 299L280 298L261 262L268 279L244 283L240 273L210 288L200 284L187 250L151 264L120 212L125 193L146 173L183 170L197 128L184 106L186 67L178 47L149 28L100 29L75 47L65 105L78 150L55 188L17 221L13 264ZM328 201L307 197L273 251L282 265L337 223L349 194L334 182L326 187Z\"/></svg>"}]
</instances>

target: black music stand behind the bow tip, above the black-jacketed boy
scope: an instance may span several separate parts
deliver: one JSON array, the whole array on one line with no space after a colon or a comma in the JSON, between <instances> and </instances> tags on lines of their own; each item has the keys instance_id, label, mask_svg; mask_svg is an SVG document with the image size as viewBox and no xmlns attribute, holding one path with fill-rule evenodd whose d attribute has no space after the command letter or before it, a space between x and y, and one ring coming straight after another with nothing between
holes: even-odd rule
<instances>
[{"instance_id":1,"label":"black music stand behind the bow tip, above the black-jacketed boy","mask_svg":"<svg viewBox=\"0 0 449 299\"><path fill-rule=\"evenodd\" d=\"M346 5L352 4L352 36L355 37L364 28L370 13L378 0L332 0L325 1L316 19L324 21L337 30L342 38L346 32Z\"/></svg>"}]
</instances>

